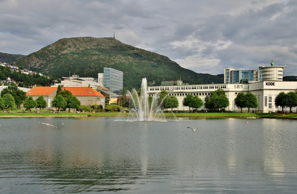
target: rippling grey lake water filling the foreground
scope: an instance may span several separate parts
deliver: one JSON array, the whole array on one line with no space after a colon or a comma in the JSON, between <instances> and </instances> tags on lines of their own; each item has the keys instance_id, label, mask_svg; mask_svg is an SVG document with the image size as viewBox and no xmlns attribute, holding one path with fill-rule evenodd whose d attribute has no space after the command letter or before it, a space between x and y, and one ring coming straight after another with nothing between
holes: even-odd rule
<instances>
[{"instance_id":1,"label":"rippling grey lake water filling the foreground","mask_svg":"<svg viewBox=\"0 0 297 194\"><path fill-rule=\"evenodd\" d=\"M114 120L0 119L0 193L297 192L296 121Z\"/></svg>"}]
</instances>

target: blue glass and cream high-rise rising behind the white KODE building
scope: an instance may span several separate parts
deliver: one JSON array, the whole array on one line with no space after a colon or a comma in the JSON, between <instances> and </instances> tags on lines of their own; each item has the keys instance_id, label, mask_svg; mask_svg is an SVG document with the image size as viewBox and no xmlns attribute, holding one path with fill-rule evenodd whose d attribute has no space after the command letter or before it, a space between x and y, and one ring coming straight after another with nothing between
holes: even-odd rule
<instances>
[{"instance_id":1,"label":"blue glass and cream high-rise rising behind the white KODE building","mask_svg":"<svg viewBox=\"0 0 297 194\"><path fill-rule=\"evenodd\" d=\"M258 66L255 70L224 68L224 83L240 83L241 81L256 82L262 81L262 69Z\"/></svg>"}]
</instances>

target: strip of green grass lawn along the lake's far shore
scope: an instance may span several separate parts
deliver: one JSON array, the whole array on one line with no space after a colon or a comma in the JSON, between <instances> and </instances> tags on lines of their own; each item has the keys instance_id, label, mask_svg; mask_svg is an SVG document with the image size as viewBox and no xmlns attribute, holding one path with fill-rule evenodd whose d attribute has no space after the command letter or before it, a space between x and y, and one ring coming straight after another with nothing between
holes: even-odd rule
<instances>
[{"instance_id":1,"label":"strip of green grass lawn along the lake's far shore","mask_svg":"<svg viewBox=\"0 0 297 194\"><path fill-rule=\"evenodd\" d=\"M18 113L19 111L19 113ZM34 116L127 116L129 113L75 113L68 111L60 111L53 113L52 111L42 110L41 113L29 111L12 111L13 113L0 112L0 117L34 117ZM165 116L173 116L172 113L164 113ZM296 113L174 113L177 117L258 117L258 118L279 118L279 119L297 119Z\"/></svg>"}]
</instances>

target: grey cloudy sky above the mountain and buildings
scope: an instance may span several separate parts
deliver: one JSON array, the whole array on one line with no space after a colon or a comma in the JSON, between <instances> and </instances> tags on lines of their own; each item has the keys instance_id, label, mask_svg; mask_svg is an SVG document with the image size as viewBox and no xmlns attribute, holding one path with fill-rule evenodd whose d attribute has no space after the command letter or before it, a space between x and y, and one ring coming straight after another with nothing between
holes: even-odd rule
<instances>
[{"instance_id":1,"label":"grey cloudy sky above the mountain and buildings","mask_svg":"<svg viewBox=\"0 0 297 194\"><path fill-rule=\"evenodd\" d=\"M297 75L296 0L0 0L0 52L70 37L113 37L217 75L284 66Z\"/></svg>"}]
</instances>

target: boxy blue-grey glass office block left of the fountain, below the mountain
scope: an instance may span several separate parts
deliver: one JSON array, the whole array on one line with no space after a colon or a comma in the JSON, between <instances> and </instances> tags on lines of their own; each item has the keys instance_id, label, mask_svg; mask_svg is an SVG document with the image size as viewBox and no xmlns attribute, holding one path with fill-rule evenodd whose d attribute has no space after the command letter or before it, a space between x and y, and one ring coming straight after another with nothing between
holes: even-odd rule
<instances>
[{"instance_id":1,"label":"boxy blue-grey glass office block left of the fountain, below the mountain","mask_svg":"<svg viewBox=\"0 0 297 194\"><path fill-rule=\"evenodd\" d=\"M123 94L123 72L113 68L103 69L104 87L115 94Z\"/></svg>"}]
</instances>

